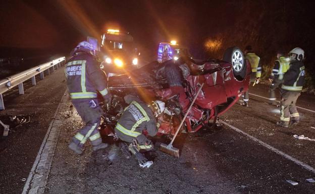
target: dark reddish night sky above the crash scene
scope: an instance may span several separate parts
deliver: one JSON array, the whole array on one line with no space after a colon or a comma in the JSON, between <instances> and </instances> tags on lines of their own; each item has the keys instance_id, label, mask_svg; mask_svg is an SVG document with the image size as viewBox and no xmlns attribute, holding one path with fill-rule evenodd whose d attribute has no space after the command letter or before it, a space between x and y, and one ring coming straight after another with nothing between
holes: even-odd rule
<instances>
[{"instance_id":1,"label":"dark reddish night sky above the crash scene","mask_svg":"<svg viewBox=\"0 0 315 194\"><path fill-rule=\"evenodd\" d=\"M289 0L2 1L0 47L69 53L86 36L100 36L107 27L117 26L130 32L147 55L155 53L160 41L170 39L177 39L199 56L204 56L208 39L219 40L222 48L214 52L220 54L231 44L241 48L252 44L264 53L270 46L266 42L275 39L285 49L295 45L310 48L307 42L314 42L312 8Z\"/></svg>"}]
</instances>

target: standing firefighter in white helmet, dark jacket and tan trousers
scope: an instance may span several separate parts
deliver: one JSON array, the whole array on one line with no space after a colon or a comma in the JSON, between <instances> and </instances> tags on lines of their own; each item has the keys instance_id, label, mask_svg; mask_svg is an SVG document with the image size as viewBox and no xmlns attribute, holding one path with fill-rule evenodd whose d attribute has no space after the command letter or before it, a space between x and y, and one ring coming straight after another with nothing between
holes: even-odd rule
<instances>
[{"instance_id":1,"label":"standing firefighter in white helmet, dark jacket and tan trousers","mask_svg":"<svg viewBox=\"0 0 315 194\"><path fill-rule=\"evenodd\" d=\"M282 97L281 97L281 116L278 125L288 127L290 124L297 124L300 120L296 109L296 100L300 95L304 79L305 67L302 62L304 51L297 47L290 51L290 68L283 76Z\"/></svg>"}]
</instances>

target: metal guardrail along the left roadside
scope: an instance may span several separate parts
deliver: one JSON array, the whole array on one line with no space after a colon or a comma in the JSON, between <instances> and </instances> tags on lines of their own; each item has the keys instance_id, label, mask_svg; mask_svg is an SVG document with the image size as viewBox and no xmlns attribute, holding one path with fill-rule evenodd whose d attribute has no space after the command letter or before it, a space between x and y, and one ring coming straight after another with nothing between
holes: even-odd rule
<instances>
[{"instance_id":1,"label":"metal guardrail along the left roadside","mask_svg":"<svg viewBox=\"0 0 315 194\"><path fill-rule=\"evenodd\" d=\"M66 57L60 57L55 60L40 64L39 66L33 67L31 69L25 70L18 74L12 75L6 79L0 80L0 110L5 109L2 94L12 89L15 86L19 86L19 93L24 94L23 82L28 79L32 79L32 85L36 85L35 76L40 74L40 79L44 79L44 71L47 75L50 74L49 69L51 68L53 72L60 68L62 64L66 61Z\"/></svg>"}]
</instances>

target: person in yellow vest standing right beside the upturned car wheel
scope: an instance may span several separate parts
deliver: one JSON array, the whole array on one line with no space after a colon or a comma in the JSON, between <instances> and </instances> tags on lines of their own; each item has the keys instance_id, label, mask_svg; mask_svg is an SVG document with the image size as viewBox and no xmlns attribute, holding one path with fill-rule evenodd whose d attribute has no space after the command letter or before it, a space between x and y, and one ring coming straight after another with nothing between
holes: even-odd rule
<instances>
[{"instance_id":1,"label":"person in yellow vest standing right beside the upturned car wheel","mask_svg":"<svg viewBox=\"0 0 315 194\"><path fill-rule=\"evenodd\" d=\"M261 76L260 58L253 51L250 45L245 47L245 58L249 61L251 66L250 83L255 82L258 84ZM244 94L243 103L241 105L248 107L249 94L248 90Z\"/></svg>"}]
</instances>

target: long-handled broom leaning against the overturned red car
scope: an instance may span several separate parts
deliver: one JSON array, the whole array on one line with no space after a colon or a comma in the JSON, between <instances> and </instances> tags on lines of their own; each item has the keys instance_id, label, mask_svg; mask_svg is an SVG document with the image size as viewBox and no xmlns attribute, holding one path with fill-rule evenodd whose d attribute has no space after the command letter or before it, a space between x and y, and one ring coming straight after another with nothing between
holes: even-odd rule
<instances>
[{"instance_id":1,"label":"long-handled broom leaning against the overturned red car","mask_svg":"<svg viewBox=\"0 0 315 194\"><path fill-rule=\"evenodd\" d=\"M203 86L203 83L201 84L201 86L200 86L200 88L199 88L197 94L195 95L194 99L192 100L192 102L191 102L191 104L190 104L188 110L186 111L186 114L185 114L184 118L182 119L181 123L179 124L179 126L178 126L178 128L177 128L177 131L176 131L174 137L172 138L171 143L170 143L169 145L166 145L166 144L163 144L163 143L161 144L160 150L161 150L162 152L165 152L165 153L167 153L167 154L170 154L170 155L172 155L172 156L175 156L175 157L179 158L179 149L173 147L173 142L174 142L174 140L175 140L175 138L176 138L176 136L177 136L177 134L178 134L180 128L182 127L182 125L183 125L183 123L184 123L184 121L185 121L185 119L186 119L186 117L187 117L187 115L188 115L188 113L189 113L189 111L190 111L192 105L195 103L195 101L196 101L196 99L197 99L197 96L198 96L198 94L199 94L200 91L201 91L202 86Z\"/></svg>"}]
</instances>

